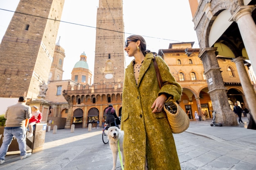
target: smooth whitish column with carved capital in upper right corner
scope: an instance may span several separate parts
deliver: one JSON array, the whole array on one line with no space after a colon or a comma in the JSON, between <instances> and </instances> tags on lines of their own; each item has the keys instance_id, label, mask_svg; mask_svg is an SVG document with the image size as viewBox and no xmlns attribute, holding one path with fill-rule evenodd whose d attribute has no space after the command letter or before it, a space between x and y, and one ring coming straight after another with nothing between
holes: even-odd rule
<instances>
[{"instance_id":1,"label":"smooth whitish column with carved capital in upper right corner","mask_svg":"<svg viewBox=\"0 0 256 170\"><path fill-rule=\"evenodd\" d=\"M229 21L237 23L246 52L252 63L254 74L256 75L256 25L252 18L252 11L254 9L254 5L240 6Z\"/></svg>"}]
</instances>

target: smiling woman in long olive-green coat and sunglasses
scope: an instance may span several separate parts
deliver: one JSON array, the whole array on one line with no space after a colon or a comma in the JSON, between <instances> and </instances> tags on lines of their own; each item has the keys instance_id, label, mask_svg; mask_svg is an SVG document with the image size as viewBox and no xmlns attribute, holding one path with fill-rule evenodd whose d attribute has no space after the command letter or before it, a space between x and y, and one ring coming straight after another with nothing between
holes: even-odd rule
<instances>
[{"instance_id":1,"label":"smiling woman in long olive-green coat and sunglasses","mask_svg":"<svg viewBox=\"0 0 256 170\"><path fill-rule=\"evenodd\" d=\"M166 100L179 100L182 87L161 57L156 57L163 87L159 89L154 54L140 35L127 38L124 50L134 60L125 72L121 129L126 170L179 170L175 142L164 112Z\"/></svg>"}]
</instances>

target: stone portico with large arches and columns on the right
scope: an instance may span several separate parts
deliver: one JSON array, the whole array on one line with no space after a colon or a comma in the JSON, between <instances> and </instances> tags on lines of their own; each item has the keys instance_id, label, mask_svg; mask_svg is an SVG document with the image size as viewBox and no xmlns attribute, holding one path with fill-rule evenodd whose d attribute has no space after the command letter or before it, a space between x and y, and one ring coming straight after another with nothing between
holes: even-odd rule
<instances>
[{"instance_id":1,"label":"stone portico with large arches and columns on the right","mask_svg":"<svg viewBox=\"0 0 256 170\"><path fill-rule=\"evenodd\" d=\"M213 109L217 111L217 122L226 126L237 125L236 116L230 109L227 88L217 55L231 58L243 87L246 107L256 119L256 93L248 76L244 60L249 59L256 68L256 2L253 0L189 0L197 33L204 74L211 96ZM248 31L249 30L249 31ZM240 98L236 98L240 102Z\"/></svg>"}]
</instances>

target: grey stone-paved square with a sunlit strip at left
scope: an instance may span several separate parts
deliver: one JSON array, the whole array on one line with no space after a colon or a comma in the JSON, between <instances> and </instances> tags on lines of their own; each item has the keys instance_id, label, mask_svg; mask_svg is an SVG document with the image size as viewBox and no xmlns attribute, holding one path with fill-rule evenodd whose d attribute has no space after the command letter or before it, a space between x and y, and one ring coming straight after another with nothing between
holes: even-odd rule
<instances>
[{"instance_id":1,"label":"grey stone-paved square with a sunlit strip at left","mask_svg":"<svg viewBox=\"0 0 256 170\"><path fill-rule=\"evenodd\" d=\"M210 126L211 120L191 121L174 134L182 170L256 170L256 131L238 126ZM102 129L58 129L45 135L43 150L27 159L7 155L1 170L111 170L112 153L102 142ZM160 157L159 157L160 159ZM121 170L117 160L117 170Z\"/></svg>"}]
</instances>

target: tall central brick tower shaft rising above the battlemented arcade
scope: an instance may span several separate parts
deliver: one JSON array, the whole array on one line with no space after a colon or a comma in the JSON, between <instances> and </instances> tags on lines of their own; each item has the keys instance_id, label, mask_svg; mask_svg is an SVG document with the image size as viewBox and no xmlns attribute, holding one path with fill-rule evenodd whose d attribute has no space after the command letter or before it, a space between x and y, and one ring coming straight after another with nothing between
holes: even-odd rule
<instances>
[{"instance_id":1,"label":"tall central brick tower shaft rising above the battlemented arcade","mask_svg":"<svg viewBox=\"0 0 256 170\"><path fill-rule=\"evenodd\" d=\"M124 20L122 0L99 0L94 83L124 81Z\"/></svg>"}]
</instances>

